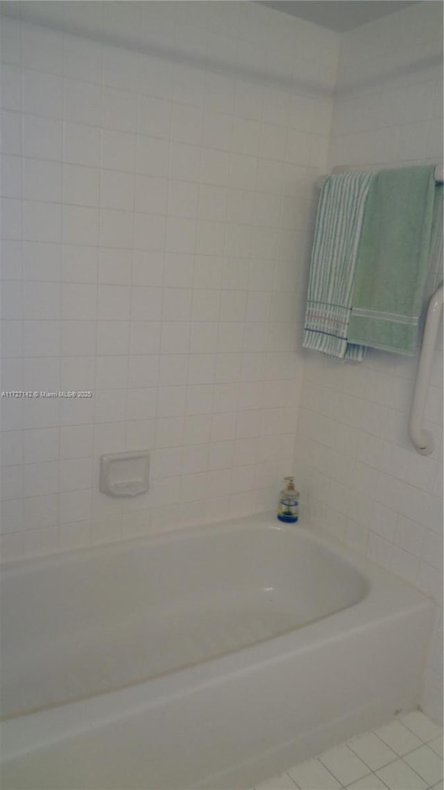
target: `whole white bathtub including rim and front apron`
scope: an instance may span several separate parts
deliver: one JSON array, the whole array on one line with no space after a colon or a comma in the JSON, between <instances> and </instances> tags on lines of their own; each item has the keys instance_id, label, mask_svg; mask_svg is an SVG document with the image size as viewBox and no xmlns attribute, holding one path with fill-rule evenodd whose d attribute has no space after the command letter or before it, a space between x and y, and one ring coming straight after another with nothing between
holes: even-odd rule
<instances>
[{"instance_id":1,"label":"whole white bathtub including rim and front apron","mask_svg":"<svg viewBox=\"0 0 444 790\"><path fill-rule=\"evenodd\" d=\"M2 572L13 788L248 788L416 705L433 606L257 516Z\"/></svg>"}]
</instances>

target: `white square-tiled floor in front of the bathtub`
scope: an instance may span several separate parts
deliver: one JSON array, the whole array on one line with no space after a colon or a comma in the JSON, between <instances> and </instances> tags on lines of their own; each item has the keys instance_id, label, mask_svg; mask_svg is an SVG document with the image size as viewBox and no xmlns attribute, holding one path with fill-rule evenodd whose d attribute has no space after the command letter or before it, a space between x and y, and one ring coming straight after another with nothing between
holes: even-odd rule
<instances>
[{"instance_id":1,"label":"white square-tiled floor in front of the bathtub","mask_svg":"<svg viewBox=\"0 0 444 790\"><path fill-rule=\"evenodd\" d=\"M420 711L299 762L255 790L443 790L442 728Z\"/></svg>"}]
</instances>

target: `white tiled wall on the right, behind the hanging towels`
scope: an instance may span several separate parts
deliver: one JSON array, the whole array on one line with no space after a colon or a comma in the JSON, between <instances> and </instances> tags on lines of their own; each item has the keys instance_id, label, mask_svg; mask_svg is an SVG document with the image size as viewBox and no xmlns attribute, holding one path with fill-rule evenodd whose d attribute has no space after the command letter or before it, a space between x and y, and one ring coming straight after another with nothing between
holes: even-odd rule
<instances>
[{"instance_id":1,"label":"white tiled wall on the right, behind the hanging towels","mask_svg":"<svg viewBox=\"0 0 444 790\"><path fill-rule=\"evenodd\" d=\"M442 5L426 2L344 34L329 166L442 161ZM427 295L442 280L435 250ZM318 526L437 603L423 705L442 717L442 332L424 426L408 439L416 359L369 352L361 365L307 354L295 467Z\"/></svg>"}]
</instances>

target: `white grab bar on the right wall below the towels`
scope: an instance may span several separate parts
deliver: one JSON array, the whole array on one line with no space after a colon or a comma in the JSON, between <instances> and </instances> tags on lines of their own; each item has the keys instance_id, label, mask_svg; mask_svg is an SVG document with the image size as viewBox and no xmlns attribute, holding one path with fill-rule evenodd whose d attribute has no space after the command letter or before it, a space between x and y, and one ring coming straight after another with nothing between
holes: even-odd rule
<instances>
[{"instance_id":1,"label":"white grab bar on the right wall below the towels","mask_svg":"<svg viewBox=\"0 0 444 790\"><path fill-rule=\"evenodd\" d=\"M410 422L408 423L410 438L416 450L418 453L421 453L421 455L430 455L430 453L433 452L433 437L430 431L424 431L422 423L443 298L444 288L441 284L432 295L427 307L420 361L416 371L415 390L413 392L412 408L410 411Z\"/></svg>"}]
</instances>

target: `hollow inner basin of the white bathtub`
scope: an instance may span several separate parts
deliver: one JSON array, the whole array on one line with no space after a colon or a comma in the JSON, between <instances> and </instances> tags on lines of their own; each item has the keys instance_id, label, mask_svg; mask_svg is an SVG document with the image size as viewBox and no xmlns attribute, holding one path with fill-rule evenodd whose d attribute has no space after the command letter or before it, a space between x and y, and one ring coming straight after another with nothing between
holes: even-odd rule
<instances>
[{"instance_id":1,"label":"hollow inner basin of the white bathtub","mask_svg":"<svg viewBox=\"0 0 444 790\"><path fill-rule=\"evenodd\" d=\"M2 570L2 717L235 653L366 592L352 563L273 521L11 563Z\"/></svg>"}]
</instances>

